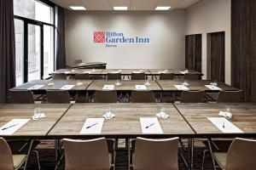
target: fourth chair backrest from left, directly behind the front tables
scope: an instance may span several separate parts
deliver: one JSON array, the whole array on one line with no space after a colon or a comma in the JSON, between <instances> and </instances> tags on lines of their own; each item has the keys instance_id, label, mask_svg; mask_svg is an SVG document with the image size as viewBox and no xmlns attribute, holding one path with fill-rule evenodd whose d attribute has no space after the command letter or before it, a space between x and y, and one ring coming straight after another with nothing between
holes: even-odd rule
<instances>
[{"instance_id":1,"label":"fourth chair backrest from left, directly behind the front tables","mask_svg":"<svg viewBox=\"0 0 256 170\"><path fill-rule=\"evenodd\" d=\"M153 103L154 92L153 91L131 91L132 103Z\"/></svg>"}]
</instances>

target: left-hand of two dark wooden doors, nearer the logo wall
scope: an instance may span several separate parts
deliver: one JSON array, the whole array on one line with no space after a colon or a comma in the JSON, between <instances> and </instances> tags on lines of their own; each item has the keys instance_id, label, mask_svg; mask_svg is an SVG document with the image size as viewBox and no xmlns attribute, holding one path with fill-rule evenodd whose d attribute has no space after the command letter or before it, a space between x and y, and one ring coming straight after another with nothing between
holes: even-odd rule
<instances>
[{"instance_id":1,"label":"left-hand of two dark wooden doors, nearer the logo wall","mask_svg":"<svg viewBox=\"0 0 256 170\"><path fill-rule=\"evenodd\" d=\"M186 38L186 68L201 72L201 34Z\"/></svg>"}]
</instances>

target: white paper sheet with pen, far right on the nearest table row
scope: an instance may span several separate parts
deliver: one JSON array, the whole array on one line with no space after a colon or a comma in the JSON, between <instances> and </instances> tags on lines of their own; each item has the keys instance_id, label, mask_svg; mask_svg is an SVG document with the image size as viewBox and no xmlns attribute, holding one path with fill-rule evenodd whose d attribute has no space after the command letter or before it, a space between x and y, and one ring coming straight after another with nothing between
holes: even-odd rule
<instances>
[{"instance_id":1,"label":"white paper sheet with pen, far right on the nearest table row","mask_svg":"<svg viewBox=\"0 0 256 170\"><path fill-rule=\"evenodd\" d=\"M243 133L241 129L224 117L207 117L223 133Z\"/></svg>"}]
</instances>

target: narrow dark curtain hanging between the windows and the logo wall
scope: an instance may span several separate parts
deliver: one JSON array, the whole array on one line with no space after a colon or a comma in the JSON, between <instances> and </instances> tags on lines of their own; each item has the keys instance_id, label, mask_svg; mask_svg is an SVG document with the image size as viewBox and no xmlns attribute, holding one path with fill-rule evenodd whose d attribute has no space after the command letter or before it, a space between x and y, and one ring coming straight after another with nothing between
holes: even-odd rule
<instances>
[{"instance_id":1,"label":"narrow dark curtain hanging between the windows and the logo wall","mask_svg":"<svg viewBox=\"0 0 256 170\"><path fill-rule=\"evenodd\" d=\"M65 50L65 11L57 7L57 56L56 69L66 68L66 50Z\"/></svg>"}]
</instances>

